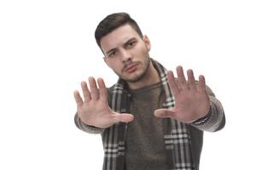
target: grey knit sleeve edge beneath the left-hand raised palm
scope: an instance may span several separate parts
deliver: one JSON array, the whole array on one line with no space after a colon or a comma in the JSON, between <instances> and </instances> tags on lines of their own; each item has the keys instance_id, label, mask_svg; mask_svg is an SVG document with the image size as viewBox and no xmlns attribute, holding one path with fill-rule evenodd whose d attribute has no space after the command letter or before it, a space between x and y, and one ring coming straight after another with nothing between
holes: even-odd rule
<instances>
[{"instance_id":1,"label":"grey knit sleeve edge beneath the left-hand raised palm","mask_svg":"<svg viewBox=\"0 0 256 170\"><path fill-rule=\"evenodd\" d=\"M74 122L75 125L82 131L86 132L86 133L103 133L104 132L104 128L99 128L99 127L92 127L89 125L86 125L84 122L82 122L82 120L80 119L78 113L75 114L74 116Z\"/></svg>"}]
</instances>

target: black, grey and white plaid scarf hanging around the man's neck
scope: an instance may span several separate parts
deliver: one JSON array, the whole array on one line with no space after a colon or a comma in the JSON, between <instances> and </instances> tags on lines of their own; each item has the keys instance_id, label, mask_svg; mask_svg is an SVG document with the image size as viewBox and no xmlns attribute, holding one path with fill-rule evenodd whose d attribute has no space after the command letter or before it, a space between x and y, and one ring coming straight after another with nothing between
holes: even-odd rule
<instances>
[{"instance_id":1,"label":"black, grey and white plaid scarf hanging around the man's neck","mask_svg":"<svg viewBox=\"0 0 256 170\"><path fill-rule=\"evenodd\" d=\"M168 86L166 69L154 59L151 59L154 68L159 72L162 86L166 93L166 103L163 108L172 108L175 99ZM112 100L110 106L113 111L122 113L129 112L130 96L126 90L124 80L119 81L113 86ZM193 150L189 134L189 125L177 122L171 118L164 120L164 141L166 154L170 169L172 170L195 170ZM108 127L102 133L102 142L105 152L103 170L125 170L125 138L127 123L119 122L112 127Z\"/></svg>"}]
</instances>

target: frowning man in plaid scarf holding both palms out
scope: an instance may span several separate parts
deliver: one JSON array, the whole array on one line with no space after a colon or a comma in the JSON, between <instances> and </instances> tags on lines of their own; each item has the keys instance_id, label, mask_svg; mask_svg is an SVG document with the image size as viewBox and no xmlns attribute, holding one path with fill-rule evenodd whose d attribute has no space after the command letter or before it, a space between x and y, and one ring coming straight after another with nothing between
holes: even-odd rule
<instances>
[{"instance_id":1,"label":"frowning man in plaid scarf holding both palms out","mask_svg":"<svg viewBox=\"0 0 256 170\"><path fill-rule=\"evenodd\" d=\"M222 105L192 70L177 78L149 57L150 41L129 14L110 14L96 28L104 61L119 76L81 82L76 126L101 133L104 170L199 169L203 131L224 127Z\"/></svg>"}]
</instances>

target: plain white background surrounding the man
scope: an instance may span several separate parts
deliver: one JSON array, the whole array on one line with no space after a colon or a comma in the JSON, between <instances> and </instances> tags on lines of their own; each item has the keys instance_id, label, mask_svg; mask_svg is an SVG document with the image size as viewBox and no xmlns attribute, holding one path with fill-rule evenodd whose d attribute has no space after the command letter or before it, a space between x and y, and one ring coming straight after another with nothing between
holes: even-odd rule
<instances>
[{"instance_id":1,"label":"plain white background surrounding the man","mask_svg":"<svg viewBox=\"0 0 256 170\"><path fill-rule=\"evenodd\" d=\"M205 133L201 169L252 169L255 148L256 5L253 1L0 2L0 169L102 169L99 135L73 123L73 90L117 77L96 46L107 14L131 14L151 56L205 75L226 127Z\"/></svg>"}]
</instances>

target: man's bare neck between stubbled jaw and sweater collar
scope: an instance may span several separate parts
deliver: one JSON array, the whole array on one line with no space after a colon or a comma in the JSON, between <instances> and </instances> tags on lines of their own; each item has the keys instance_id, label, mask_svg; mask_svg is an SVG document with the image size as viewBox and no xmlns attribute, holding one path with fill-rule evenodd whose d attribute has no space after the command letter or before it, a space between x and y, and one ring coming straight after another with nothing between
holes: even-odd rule
<instances>
[{"instance_id":1,"label":"man's bare neck between stubbled jaw and sweater collar","mask_svg":"<svg viewBox=\"0 0 256 170\"><path fill-rule=\"evenodd\" d=\"M144 77L138 81L138 82L127 82L129 88L131 89L138 89L143 88L145 86L149 86L151 84L160 82L160 76L158 75L158 72L155 70L152 62L150 62L148 71L144 75Z\"/></svg>"}]
</instances>

